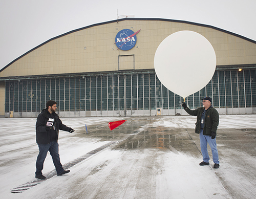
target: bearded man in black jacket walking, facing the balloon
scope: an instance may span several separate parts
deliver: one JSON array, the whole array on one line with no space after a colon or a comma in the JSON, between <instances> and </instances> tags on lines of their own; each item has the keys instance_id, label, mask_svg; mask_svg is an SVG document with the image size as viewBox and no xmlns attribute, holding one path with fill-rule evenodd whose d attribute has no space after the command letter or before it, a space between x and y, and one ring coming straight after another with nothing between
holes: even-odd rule
<instances>
[{"instance_id":1,"label":"bearded man in black jacket walking, facing the balloon","mask_svg":"<svg viewBox=\"0 0 256 199\"><path fill-rule=\"evenodd\" d=\"M74 132L75 130L62 124L58 115L55 113L57 109L57 102L49 100L46 103L46 109L38 115L36 120L36 143L38 144L39 154L36 160L35 178L44 180L46 177L42 175L44 162L47 152L50 151L53 164L55 166L57 175L63 175L70 172L64 170L59 159L59 144L58 136L59 130Z\"/></svg>"}]
</instances>

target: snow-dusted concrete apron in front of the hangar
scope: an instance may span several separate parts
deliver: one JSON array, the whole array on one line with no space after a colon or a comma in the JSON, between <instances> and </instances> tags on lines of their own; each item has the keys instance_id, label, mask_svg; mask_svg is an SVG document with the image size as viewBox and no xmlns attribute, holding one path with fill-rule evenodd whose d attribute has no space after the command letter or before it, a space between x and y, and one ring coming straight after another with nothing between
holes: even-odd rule
<instances>
[{"instance_id":1,"label":"snow-dusted concrete apron in front of the hangar","mask_svg":"<svg viewBox=\"0 0 256 199\"><path fill-rule=\"evenodd\" d=\"M122 119L127 122L113 131L109 130L108 122ZM68 174L54 176L23 193L11 193L11 189L34 179L38 154L36 119L0 119L0 198L256 197L256 115L220 116L217 131L219 169L212 168L212 161L210 166L199 166L202 157L199 137L194 134L196 117L193 116L61 120L76 130L73 134L60 131L62 164L110 141L114 140L116 144L71 167ZM89 134L86 134L85 124ZM152 136L152 142L155 141L153 136L158 135L157 141L161 142L162 129L172 131L169 148L115 147L125 139L131 141L140 132ZM144 141L145 138L144 135ZM48 154L43 172L53 169Z\"/></svg>"}]
</instances>

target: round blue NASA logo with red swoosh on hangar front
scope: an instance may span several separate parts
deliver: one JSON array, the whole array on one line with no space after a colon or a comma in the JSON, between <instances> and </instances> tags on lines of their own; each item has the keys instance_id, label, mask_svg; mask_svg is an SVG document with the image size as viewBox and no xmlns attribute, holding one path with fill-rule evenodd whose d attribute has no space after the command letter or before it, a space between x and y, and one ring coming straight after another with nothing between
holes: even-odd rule
<instances>
[{"instance_id":1,"label":"round blue NASA logo with red swoosh on hangar front","mask_svg":"<svg viewBox=\"0 0 256 199\"><path fill-rule=\"evenodd\" d=\"M130 29L123 29L119 31L115 39L115 44L117 48L123 51L131 50L136 45L136 42L137 42L136 34L138 32L140 32L140 30L137 31L136 33Z\"/></svg>"}]
</instances>

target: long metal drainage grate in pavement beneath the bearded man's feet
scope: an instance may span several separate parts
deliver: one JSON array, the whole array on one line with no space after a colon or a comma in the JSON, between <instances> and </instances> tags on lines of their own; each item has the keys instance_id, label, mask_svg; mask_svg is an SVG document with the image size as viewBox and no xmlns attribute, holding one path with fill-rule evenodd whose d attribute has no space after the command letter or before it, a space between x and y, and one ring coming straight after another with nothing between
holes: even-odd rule
<instances>
[{"instance_id":1,"label":"long metal drainage grate in pavement beneath the bearded man's feet","mask_svg":"<svg viewBox=\"0 0 256 199\"><path fill-rule=\"evenodd\" d=\"M77 158L75 160L72 160L71 162L68 162L66 164L63 165L63 169L69 169L70 167L78 164L79 162L89 158L90 156L92 156L93 154L105 149L106 147L109 147L110 145L114 144L116 141L112 141L112 142L109 142L108 144L105 144L99 148L96 148L95 150L92 150L86 154L84 154L83 156L81 156L80 158ZM51 170L49 171L48 173L45 174L46 176L46 179L45 180L39 180L39 179L35 179L35 180L32 180L32 181L29 181L23 185L20 185L20 186L17 186L16 188L14 189L11 189L11 192L12 193L22 193L26 190L28 190L29 188L31 187L34 187L38 184L41 184L42 182L48 180L48 179L51 179L54 175L57 175L56 171L55 170Z\"/></svg>"}]
</instances>

